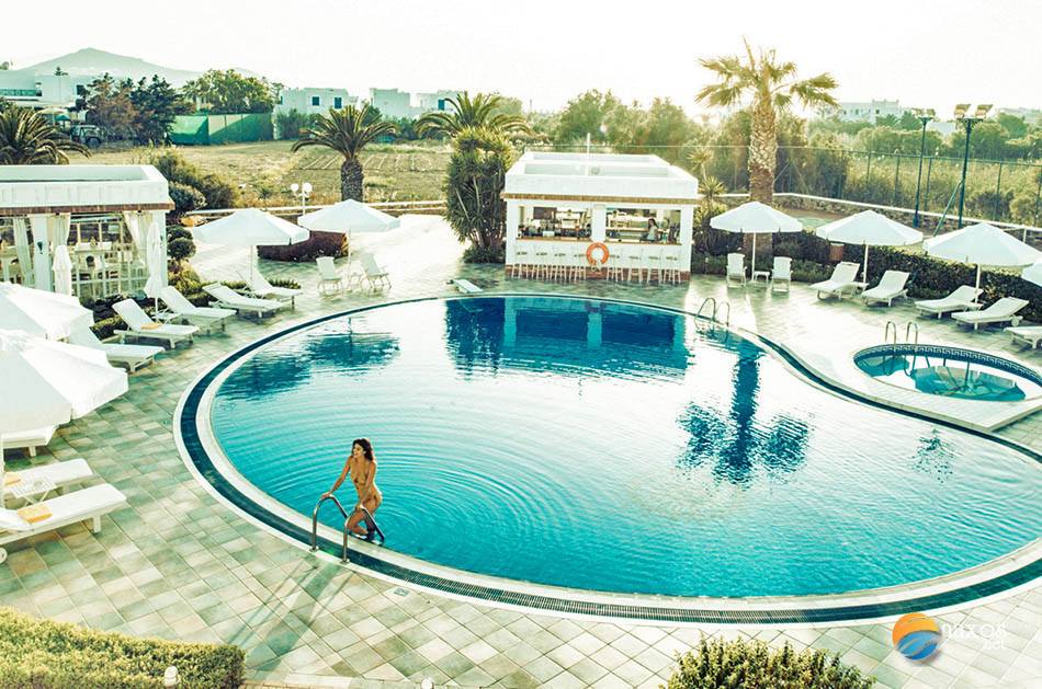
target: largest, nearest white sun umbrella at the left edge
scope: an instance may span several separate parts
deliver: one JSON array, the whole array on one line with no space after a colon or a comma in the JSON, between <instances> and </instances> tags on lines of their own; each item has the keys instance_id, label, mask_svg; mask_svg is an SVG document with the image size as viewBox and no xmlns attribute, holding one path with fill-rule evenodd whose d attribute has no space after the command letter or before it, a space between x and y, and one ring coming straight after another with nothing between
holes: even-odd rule
<instances>
[{"instance_id":1,"label":"largest, nearest white sun umbrella at the left edge","mask_svg":"<svg viewBox=\"0 0 1042 689\"><path fill-rule=\"evenodd\" d=\"M3 435L84 416L127 390L126 372L100 349L0 330L0 505Z\"/></svg>"}]
</instances>

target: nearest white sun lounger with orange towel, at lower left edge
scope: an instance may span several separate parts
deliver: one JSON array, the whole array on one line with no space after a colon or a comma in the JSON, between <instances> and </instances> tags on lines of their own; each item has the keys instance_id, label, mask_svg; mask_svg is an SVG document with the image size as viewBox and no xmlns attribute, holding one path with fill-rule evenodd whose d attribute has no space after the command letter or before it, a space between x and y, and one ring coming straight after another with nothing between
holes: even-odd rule
<instances>
[{"instance_id":1,"label":"nearest white sun lounger with orange towel, at lower left edge","mask_svg":"<svg viewBox=\"0 0 1042 689\"><path fill-rule=\"evenodd\" d=\"M50 514L33 523L25 519L24 507L21 510L0 508L0 546L88 519L91 530L97 533L101 531L102 515L125 507L126 496L115 486L102 483L42 501L33 507L37 505ZM0 563L7 559L8 551L0 548Z\"/></svg>"}]
</instances>

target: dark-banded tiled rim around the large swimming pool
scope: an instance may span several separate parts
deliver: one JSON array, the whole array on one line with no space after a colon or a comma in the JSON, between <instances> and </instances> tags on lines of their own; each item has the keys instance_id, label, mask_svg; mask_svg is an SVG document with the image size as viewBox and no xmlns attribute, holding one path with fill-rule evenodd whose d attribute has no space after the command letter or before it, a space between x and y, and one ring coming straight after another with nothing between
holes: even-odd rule
<instances>
[{"instance_id":1,"label":"dark-banded tiled rim around the large swimming pool","mask_svg":"<svg viewBox=\"0 0 1042 689\"><path fill-rule=\"evenodd\" d=\"M509 296L530 297L534 295L496 295L496 297ZM546 295L539 296L545 297ZM454 297L454 299L466 298L467 297ZM344 315L359 314L374 308L435 299L440 298L409 299L327 314L261 337L216 363L189 387L182 395L178 411L175 412L174 428L178 447L181 450L182 458L189 464L189 468L193 470L193 474L197 478L202 478L205 483L208 484L211 492L216 493L224 502L230 503L241 514L279 532L283 537L295 541L302 547L306 547L310 539L310 532L306 526L306 518L294 520L286 518L285 515L275 514L268 505L263 504L265 502L263 497L257 494L249 494L259 493L259 491L240 490L240 487L235 484L235 481L229 480L228 476L223 474L222 469L217 466L222 462L218 461L215 463L214 458L208 455L208 444L206 443L206 438L203 437L208 428L208 416L205 420L197 417L201 406L205 406L204 401L207 392L213 391L216 387L214 383L217 382L224 374L227 374L229 368L234 367L237 361L275 340L313 328L326 321ZM615 299L602 299L601 301L648 307L679 315L692 315L681 309L657 305ZM743 337L751 338L754 342L762 343L766 348L775 354L785 365L795 368L802 377L809 380L812 384L823 386L831 392L839 393L846 398L868 402L874 406L879 405L879 403L873 403L871 400L859 399L857 394L851 394L839 388L829 386L827 380L822 380L819 376L807 370L806 367L801 366L793 357L788 356L784 348L774 345L763 337L755 333L741 331L738 331L738 334ZM1013 447L1033 458L1035 461L1042 459L1037 452L1026 450L1026 448L1018 447L1003 439L996 439L988 434L969 433L971 433L971 435L987 437L1008 447ZM298 515L299 513L295 514ZM303 517L303 515L301 516ZM339 542L328 536L320 536L319 541L325 552L339 554ZM352 541L352 543L355 542L356 541ZM374 555L371 554L371 551L374 550L372 547L367 548L361 543L359 547L352 548L350 559L354 565L369 570L381 577L408 583L439 593L465 598L476 598L492 604L565 615L654 622L813 624L880 619L908 611L949 608L967 604L979 598L1010 592L1042 576L1042 556L1040 556L1038 552L1038 546L1039 540L1035 539L1028 547L1019 551L1008 553L984 565L940 577L940 579L936 581L927 579L914 584L891 587L890 589L860 590L850 595L812 595L791 598L627 596L600 594L599 592L587 589L526 585L523 582L512 579L502 581L490 576L473 575L468 572L454 571L450 567L439 565L424 566L427 563L422 561L411 559L407 555L398 555L397 553ZM362 552L363 550L365 552ZM416 563L416 566L412 566L414 563ZM988 578L989 576L990 578ZM972 583L967 584L971 579ZM960 582L962 582L962 586L959 585Z\"/></svg>"}]
</instances>

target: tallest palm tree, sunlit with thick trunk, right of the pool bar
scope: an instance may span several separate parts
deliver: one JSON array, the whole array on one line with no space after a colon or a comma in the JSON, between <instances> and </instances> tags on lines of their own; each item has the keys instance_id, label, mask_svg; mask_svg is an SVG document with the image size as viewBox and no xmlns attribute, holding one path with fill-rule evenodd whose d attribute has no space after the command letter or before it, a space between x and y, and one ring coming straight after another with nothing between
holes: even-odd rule
<instances>
[{"instance_id":1,"label":"tallest palm tree, sunlit with thick trunk, right of the pool bar","mask_svg":"<svg viewBox=\"0 0 1042 689\"><path fill-rule=\"evenodd\" d=\"M806 107L836 105L830 91L838 84L828 72L811 79L796 79L794 62L779 61L774 50L760 49L759 56L756 56L749 42L744 43L745 56L699 60L720 81L699 91L696 99L710 105L729 107L751 96L749 196L752 200L769 204L774 193L779 115L789 110L793 100L799 100Z\"/></svg>"}]
</instances>

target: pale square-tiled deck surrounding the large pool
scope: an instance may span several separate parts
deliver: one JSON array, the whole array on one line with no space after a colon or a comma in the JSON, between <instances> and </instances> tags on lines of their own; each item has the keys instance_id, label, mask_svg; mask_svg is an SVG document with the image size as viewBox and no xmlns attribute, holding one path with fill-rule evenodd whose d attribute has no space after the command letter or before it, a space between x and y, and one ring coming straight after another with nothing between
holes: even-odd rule
<instances>
[{"instance_id":1,"label":"pale square-tiled deck surrounding the large pool","mask_svg":"<svg viewBox=\"0 0 1042 689\"><path fill-rule=\"evenodd\" d=\"M887 320L914 319L909 307L867 310L818 302L796 285L790 295L728 290L722 279L687 287L591 282L550 285L507 280L492 268L463 266L461 248L433 218L409 218L365 243L395 279L381 295L318 297L310 265L264 264L270 277L294 277L307 294L293 312L226 334L200 337L135 374L131 391L61 428L37 461L84 457L129 498L103 530L63 529L9 548L0 565L0 605L37 616L133 634L228 641L248 652L257 684L411 687L424 677L466 687L637 687L665 682L672 655L700 635L756 636L795 647L824 647L874 675L880 686L1016 687L1042 678L1042 585L938 616L950 624L993 624L1001 643L949 639L928 664L904 659L890 625L720 628L642 625L523 613L417 592L318 560L237 516L188 472L171 418L185 387L215 360L262 334L322 313L410 297L446 295L465 276L488 291L559 291L616 297L694 310L707 296L727 299L732 322L823 357L846 357L877 344ZM240 251L204 249L193 261L204 277L234 278ZM920 341L1011 356L1040 366L1042 355L1003 333L918 320ZM1000 435L1042 450L1042 413ZM12 455L14 455L12 452ZM22 460L11 461L16 467Z\"/></svg>"}]
</instances>

